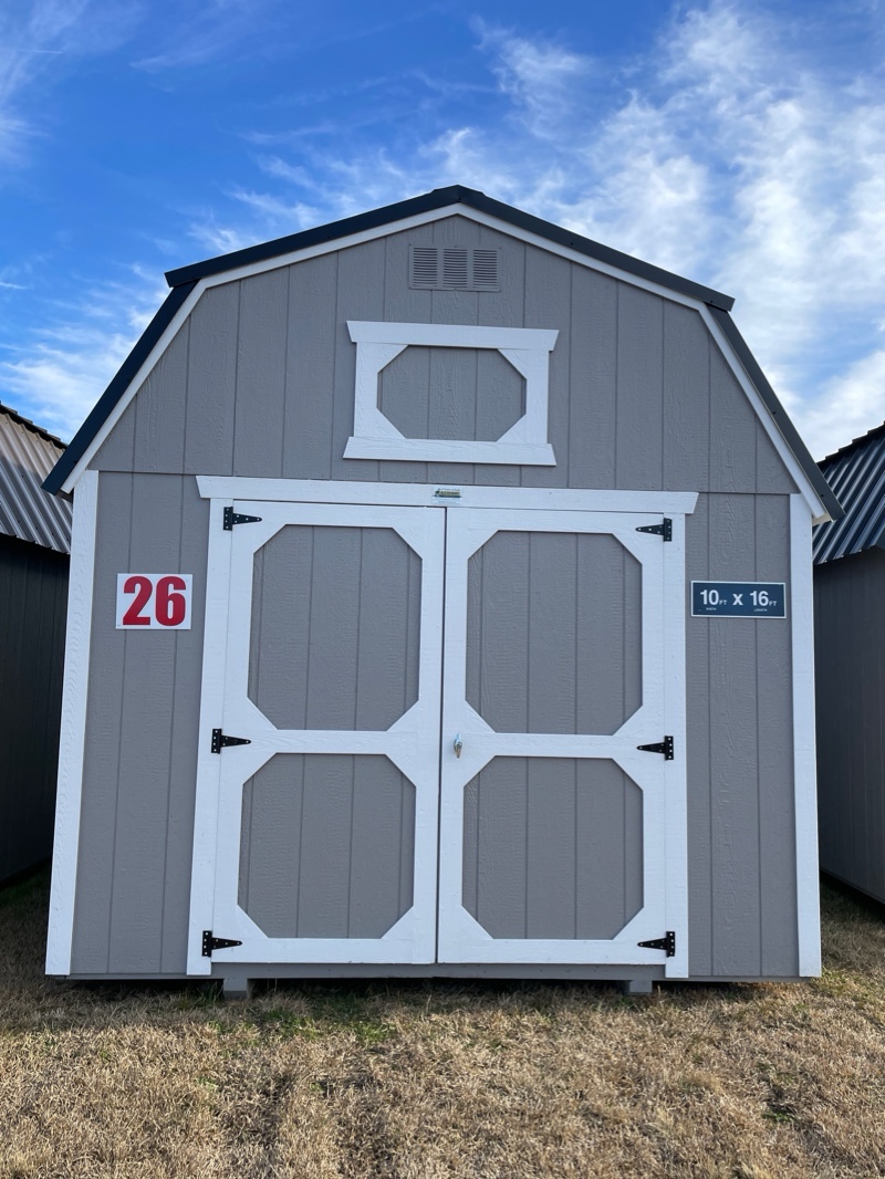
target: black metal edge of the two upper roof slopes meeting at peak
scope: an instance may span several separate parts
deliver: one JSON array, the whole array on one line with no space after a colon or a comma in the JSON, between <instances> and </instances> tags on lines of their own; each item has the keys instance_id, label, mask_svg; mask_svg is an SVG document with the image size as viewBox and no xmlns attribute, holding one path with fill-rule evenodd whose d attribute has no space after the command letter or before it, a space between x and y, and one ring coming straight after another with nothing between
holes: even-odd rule
<instances>
[{"instance_id":1,"label":"black metal edge of the two upper roof slopes meeting at peak","mask_svg":"<svg viewBox=\"0 0 885 1179\"><path fill-rule=\"evenodd\" d=\"M330 222L327 225L317 225L313 229L302 230L299 233L290 233L287 237L275 238L273 242L262 242L257 245L247 246L243 250L235 250L232 253L222 253L203 262L195 262L177 270L166 271L166 282L175 288L181 283L196 282L199 278L208 278L212 275L223 274L225 270L236 270L240 266L254 265L255 263L269 262L284 253L294 253L297 250L306 250L313 245L326 242L334 242L337 238L348 237L352 233L361 233L371 229L380 229L407 217L420 216L424 212L434 212L445 209L447 205L467 205L478 212L487 213L499 220L522 229L526 232L544 237L557 245L568 246L577 253L583 253L597 262L615 266L627 274L636 275L648 282L657 283L669 290L691 298L709 303L710 307L730 311L734 299L730 295L723 295L702 283L693 282L690 278L682 278L661 266L654 266L649 262L634 258L632 255L622 253L611 246L602 245L589 237L573 233L555 225L552 222L536 217L533 213L523 212L513 205L504 204L493 197L487 197L477 189L466 189L460 184L453 184L446 189L434 189L418 197L409 197L406 200L386 205L384 209L373 209L371 212L359 213L354 217L346 217L342 220Z\"/></svg>"}]
</instances>

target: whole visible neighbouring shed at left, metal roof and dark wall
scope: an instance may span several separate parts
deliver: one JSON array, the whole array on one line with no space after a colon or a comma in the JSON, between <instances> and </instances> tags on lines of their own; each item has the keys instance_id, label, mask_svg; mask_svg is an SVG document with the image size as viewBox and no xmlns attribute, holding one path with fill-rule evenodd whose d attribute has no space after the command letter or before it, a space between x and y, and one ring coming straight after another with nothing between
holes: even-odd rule
<instances>
[{"instance_id":1,"label":"whole visible neighbouring shed at left, metal roof and dark wall","mask_svg":"<svg viewBox=\"0 0 885 1179\"><path fill-rule=\"evenodd\" d=\"M0 404L0 881L52 852L71 507L41 483L64 449Z\"/></svg>"}]
</instances>

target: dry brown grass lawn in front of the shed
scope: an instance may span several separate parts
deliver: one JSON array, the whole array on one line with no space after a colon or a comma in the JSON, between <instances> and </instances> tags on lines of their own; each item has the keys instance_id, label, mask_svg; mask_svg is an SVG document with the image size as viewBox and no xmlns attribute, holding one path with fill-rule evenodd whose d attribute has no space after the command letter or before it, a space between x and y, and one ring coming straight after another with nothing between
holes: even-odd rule
<instances>
[{"instance_id":1,"label":"dry brown grass lawn in front of the shed","mask_svg":"<svg viewBox=\"0 0 885 1179\"><path fill-rule=\"evenodd\" d=\"M825 891L800 986L42 977L0 893L0 1175L885 1175L885 916Z\"/></svg>"}]
</instances>

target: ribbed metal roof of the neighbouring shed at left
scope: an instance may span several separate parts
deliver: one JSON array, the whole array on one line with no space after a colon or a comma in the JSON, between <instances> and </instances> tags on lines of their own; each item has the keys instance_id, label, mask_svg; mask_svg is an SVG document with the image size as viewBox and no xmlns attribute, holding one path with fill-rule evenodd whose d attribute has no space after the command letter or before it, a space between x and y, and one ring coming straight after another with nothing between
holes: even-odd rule
<instances>
[{"instance_id":1,"label":"ribbed metal roof of the neighbouring shed at left","mask_svg":"<svg viewBox=\"0 0 885 1179\"><path fill-rule=\"evenodd\" d=\"M60 439L0 403L0 534L71 552L71 505L41 486L64 452Z\"/></svg>"}]
</instances>

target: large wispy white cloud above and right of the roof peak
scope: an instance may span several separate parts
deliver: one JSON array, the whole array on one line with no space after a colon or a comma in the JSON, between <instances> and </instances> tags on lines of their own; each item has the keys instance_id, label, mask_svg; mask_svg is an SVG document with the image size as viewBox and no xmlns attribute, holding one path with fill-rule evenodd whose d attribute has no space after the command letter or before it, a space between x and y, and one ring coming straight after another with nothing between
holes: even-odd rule
<instances>
[{"instance_id":1,"label":"large wispy white cloud above and right of the roof peak","mask_svg":"<svg viewBox=\"0 0 885 1179\"><path fill-rule=\"evenodd\" d=\"M830 448L833 420L854 429L850 417L885 416L871 311L885 303L874 55L832 65L795 24L727 0L680 9L629 61L476 31L506 103L498 119L368 149L339 137L326 153L293 140L291 159L278 141L258 160L277 191L232 193L255 215L253 233L278 232L289 216L297 228L314 209L320 219L440 183L474 185L735 295L813 450ZM857 407L847 416L840 399Z\"/></svg>"}]
</instances>

